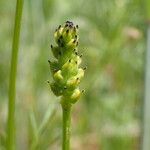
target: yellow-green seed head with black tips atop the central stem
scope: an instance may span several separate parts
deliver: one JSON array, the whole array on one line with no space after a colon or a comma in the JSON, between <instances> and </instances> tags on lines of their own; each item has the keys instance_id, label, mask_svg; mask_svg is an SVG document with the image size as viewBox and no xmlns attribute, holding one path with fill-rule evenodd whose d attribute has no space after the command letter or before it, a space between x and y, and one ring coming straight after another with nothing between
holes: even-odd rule
<instances>
[{"instance_id":1,"label":"yellow-green seed head with black tips atop the central stem","mask_svg":"<svg viewBox=\"0 0 150 150\"><path fill-rule=\"evenodd\" d=\"M55 33L57 46L51 45L54 61L48 61L53 76L53 82L49 83L56 96L61 96L63 103L75 103L81 96L79 83L84 76L86 68L80 68L81 57L78 53L77 35L78 25L66 21L64 26L59 26Z\"/></svg>"}]
</instances>

